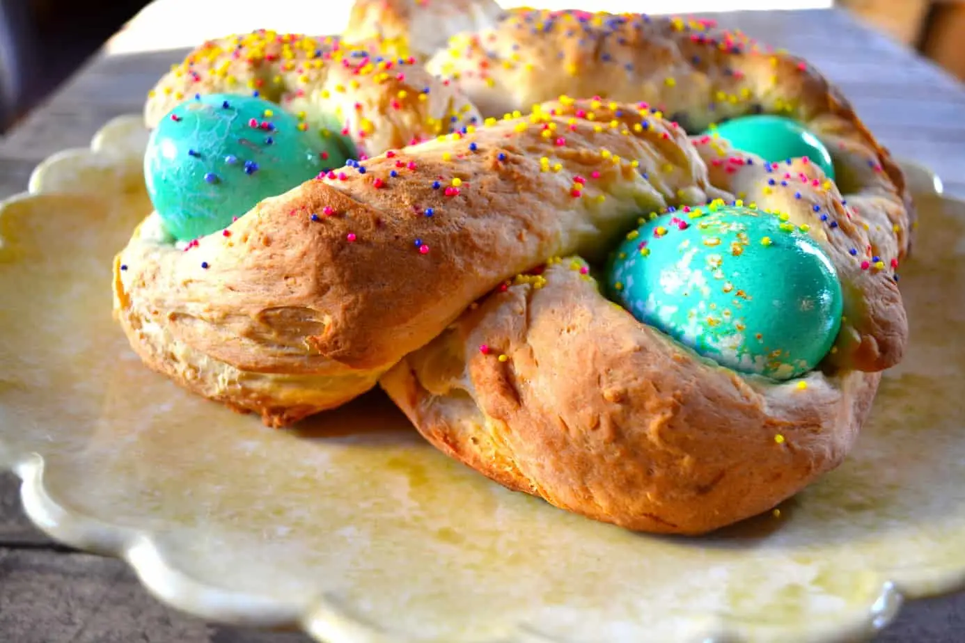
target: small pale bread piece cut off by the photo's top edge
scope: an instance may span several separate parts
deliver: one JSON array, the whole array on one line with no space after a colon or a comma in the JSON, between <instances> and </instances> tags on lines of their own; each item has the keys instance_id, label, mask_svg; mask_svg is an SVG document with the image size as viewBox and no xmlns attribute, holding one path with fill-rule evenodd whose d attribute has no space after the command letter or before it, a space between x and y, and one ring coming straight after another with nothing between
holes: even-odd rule
<instances>
[{"instance_id":1,"label":"small pale bread piece cut off by the photo's top edge","mask_svg":"<svg viewBox=\"0 0 965 643\"><path fill-rule=\"evenodd\" d=\"M501 13L495 0L355 0L342 37L391 43L425 60L451 36L489 27Z\"/></svg>"}]
</instances>

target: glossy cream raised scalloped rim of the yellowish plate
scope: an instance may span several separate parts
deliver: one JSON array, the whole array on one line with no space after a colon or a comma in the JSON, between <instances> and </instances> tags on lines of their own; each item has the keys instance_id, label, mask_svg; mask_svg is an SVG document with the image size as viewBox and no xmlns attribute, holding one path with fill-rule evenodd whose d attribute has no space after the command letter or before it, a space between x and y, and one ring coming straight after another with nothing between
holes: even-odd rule
<instances>
[{"instance_id":1,"label":"glossy cream raised scalloped rim of the yellowish plate","mask_svg":"<svg viewBox=\"0 0 965 643\"><path fill-rule=\"evenodd\" d=\"M0 216L16 202L27 201L41 194L65 194L45 192L42 189L43 172L56 163L76 156L101 157L107 164L110 164L111 160L124 160L127 155L123 152L117 153L110 147L103 147L103 133L112 127L140 118L130 114L115 117L97 130L89 147L69 147L47 156L30 174L27 190L0 200ZM921 196L965 203L965 198L945 194L941 178L924 164L908 159L898 159L897 162L909 175L909 183L920 189ZM4 455L8 458L4 458ZM162 603L208 621L269 629L299 628L326 643L415 641L391 636L361 619L352 617L329 597L318 596L301 602L279 601L200 581L165 561L162 548L157 545L152 532L103 522L58 504L44 487L43 471L46 464L39 453L29 452L13 459L9 456L13 454L0 442L0 469L10 469L20 478L21 504L24 513L35 526L50 538L69 547L123 560L138 576L141 584ZM912 596L915 593L902 591L895 581L887 578L888 570L875 571L882 576L882 586L874 603L871 603L865 612L864 621L860 624L849 624L857 626L850 628L842 624L833 638L822 640L852 641L861 633L871 637L894 622L906 598L915 600L940 596L965 587L963 571L957 580L941 583L940 589L934 592ZM733 625L737 625L736 623L731 622L729 627L729 620L721 615L714 615L707 620L710 623L704 623L702 628L705 634L699 636L703 643L734 643L741 640L738 634L728 631ZM509 637L500 636L498 639L485 641L466 639L464 643L558 643L555 639L528 630L522 624L515 624L505 635Z\"/></svg>"}]
</instances>

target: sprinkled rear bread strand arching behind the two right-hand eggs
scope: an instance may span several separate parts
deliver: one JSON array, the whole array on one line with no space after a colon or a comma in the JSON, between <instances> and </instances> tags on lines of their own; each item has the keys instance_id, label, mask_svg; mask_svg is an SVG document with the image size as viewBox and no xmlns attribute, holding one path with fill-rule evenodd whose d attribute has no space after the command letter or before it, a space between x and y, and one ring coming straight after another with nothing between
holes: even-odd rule
<instances>
[{"instance_id":1,"label":"sprinkled rear bread strand arching behind the two right-hand eggs","mask_svg":"<svg viewBox=\"0 0 965 643\"><path fill-rule=\"evenodd\" d=\"M717 30L710 21L515 11L492 28L455 36L427 67L458 84L483 116L526 110L568 94L646 101L690 132L745 114L793 117L832 151L845 195L821 229L834 242L841 235L831 224L865 228L868 239L857 246L848 270L868 271L869 280L892 280L909 250L914 210L904 177L837 88L806 62ZM704 154L708 160L731 165L724 144L699 141L715 148ZM777 178L774 190L793 195ZM869 310L845 310L849 323L835 357L870 370L898 362L907 335L896 285L875 287L891 292L869 302L874 306Z\"/></svg>"}]
</instances>

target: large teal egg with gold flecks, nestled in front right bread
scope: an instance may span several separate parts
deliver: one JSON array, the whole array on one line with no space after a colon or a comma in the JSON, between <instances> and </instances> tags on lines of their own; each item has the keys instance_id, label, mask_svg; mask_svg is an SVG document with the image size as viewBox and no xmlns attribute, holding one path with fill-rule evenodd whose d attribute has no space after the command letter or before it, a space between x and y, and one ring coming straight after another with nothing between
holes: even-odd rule
<instances>
[{"instance_id":1,"label":"large teal egg with gold flecks, nestled in front right bread","mask_svg":"<svg viewBox=\"0 0 965 643\"><path fill-rule=\"evenodd\" d=\"M614 253L611 296L704 357L776 380L811 370L841 327L841 283L778 216L708 205L654 218Z\"/></svg>"}]
</instances>

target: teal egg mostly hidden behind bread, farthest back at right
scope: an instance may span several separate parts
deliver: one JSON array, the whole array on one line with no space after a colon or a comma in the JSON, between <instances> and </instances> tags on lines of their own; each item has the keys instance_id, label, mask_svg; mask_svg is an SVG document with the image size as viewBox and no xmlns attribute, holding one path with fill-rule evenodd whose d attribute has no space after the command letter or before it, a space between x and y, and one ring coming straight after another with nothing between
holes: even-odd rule
<instances>
[{"instance_id":1,"label":"teal egg mostly hidden behind bread, farthest back at right","mask_svg":"<svg viewBox=\"0 0 965 643\"><path fill-rule=\"evenodd\" d=\"M714 133L727 139L731 147L757 154L772 163L807 156L828 178L835 178L835 166L828 148L798 121L780 116L745 116L704 132Z\"/></svg>"}]
</instances>

